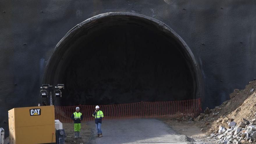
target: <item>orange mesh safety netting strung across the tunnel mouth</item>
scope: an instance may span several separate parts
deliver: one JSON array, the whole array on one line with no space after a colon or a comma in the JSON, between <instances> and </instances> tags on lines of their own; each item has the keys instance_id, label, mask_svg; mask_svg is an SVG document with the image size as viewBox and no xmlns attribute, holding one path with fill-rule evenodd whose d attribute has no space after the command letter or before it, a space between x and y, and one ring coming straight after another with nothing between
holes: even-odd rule
<instances>
[{"instance_id":1,"label":"orange mesh safety netting strung across the tunnel mouth","mask_svg":"<svg viewBox=\"0 0 256 144\"><path fill-rule=\"evenodd\" d=\"M83 121L94 120L93 105L78 105L83 115ZM72 114L77 106L55 106L55 119L61 122L73 122ZM100 105L104 119L128 118L177 118L182 116L197 116L202 111L200 99L168 101L168 102L137 102L131 104Z\"/></svg>"}]
</instances>

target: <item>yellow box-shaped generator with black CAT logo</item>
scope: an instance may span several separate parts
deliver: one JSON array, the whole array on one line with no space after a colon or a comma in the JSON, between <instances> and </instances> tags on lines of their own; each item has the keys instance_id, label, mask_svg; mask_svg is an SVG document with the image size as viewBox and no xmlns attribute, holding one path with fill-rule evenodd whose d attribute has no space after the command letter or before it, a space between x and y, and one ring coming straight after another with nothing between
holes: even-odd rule
<instances>
[{"instance_id":1,"label":"yellow box-shaped generator with black CAT logo","mask_svg":"<svg viewBox=\"0 0 256 144\"><path fill-rule=\"evenodd\" d=\"M10 144L55 143L54 106L8 111Z\"/></svg>"}]
</instances>

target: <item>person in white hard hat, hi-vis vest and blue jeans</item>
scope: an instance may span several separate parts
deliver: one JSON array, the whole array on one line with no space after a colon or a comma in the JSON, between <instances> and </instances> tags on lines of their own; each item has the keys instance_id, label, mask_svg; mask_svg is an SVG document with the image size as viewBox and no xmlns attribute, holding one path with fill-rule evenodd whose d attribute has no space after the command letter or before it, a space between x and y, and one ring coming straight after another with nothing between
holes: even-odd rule
<instances>
[{"instance_id":1,"label":"person in white hard hat, hi-vis vest and blue jeans","mask_svg":"<svg viewBox=\"0 0 256 144\"><path fill-rule=\"evenodd\" d=\"M97 137L102 137L101 123L102 118L104 117L103 112L99 110L99 106L95 107L95 112L93 113L93 117L95 117L95 125L97 131Z\"/></svg>"}]
</instances>

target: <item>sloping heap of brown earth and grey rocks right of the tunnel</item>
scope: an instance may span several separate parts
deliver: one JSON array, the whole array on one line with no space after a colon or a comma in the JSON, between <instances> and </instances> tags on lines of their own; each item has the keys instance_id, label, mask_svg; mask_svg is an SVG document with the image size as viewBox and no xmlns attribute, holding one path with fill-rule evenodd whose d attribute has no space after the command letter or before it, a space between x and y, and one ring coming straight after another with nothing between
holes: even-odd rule
<instances>
[{"instance_id":1,"label":"sloping heap of brown earth and grey rocks right of the tunnel","mask_svg":"<svg viewBox=\"0 0 256 144\"><path fill-rule=\"evenodd\" d=\"M243 90L234 89L229 100L206 108L196 118L184 116L178 120L195 122L220 144L256 143L256 81Z\"/></svg>"}]
</instances>

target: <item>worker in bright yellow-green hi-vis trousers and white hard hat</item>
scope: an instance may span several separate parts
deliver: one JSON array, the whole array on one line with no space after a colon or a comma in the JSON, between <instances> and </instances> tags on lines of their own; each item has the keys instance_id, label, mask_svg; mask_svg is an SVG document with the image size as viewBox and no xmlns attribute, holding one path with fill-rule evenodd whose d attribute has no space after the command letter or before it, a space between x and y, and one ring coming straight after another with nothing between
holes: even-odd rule
<instances>
[{"instance_id":1,"label":"worker in bright yellow-green hi-vis trousers and white hard hat","mask_svg":"<svg viewBox=\"0 0 256 144\"><path fill-rule=\"evenodd\" d=\"M83 120L83 115L79 111L80 111L80 108L77 106L76 112L74 112L71 116L72 120L74 120L75 138L82 138L80 136L80 130L81 130L81 120Z\"/></svg>"}]
</instances>

